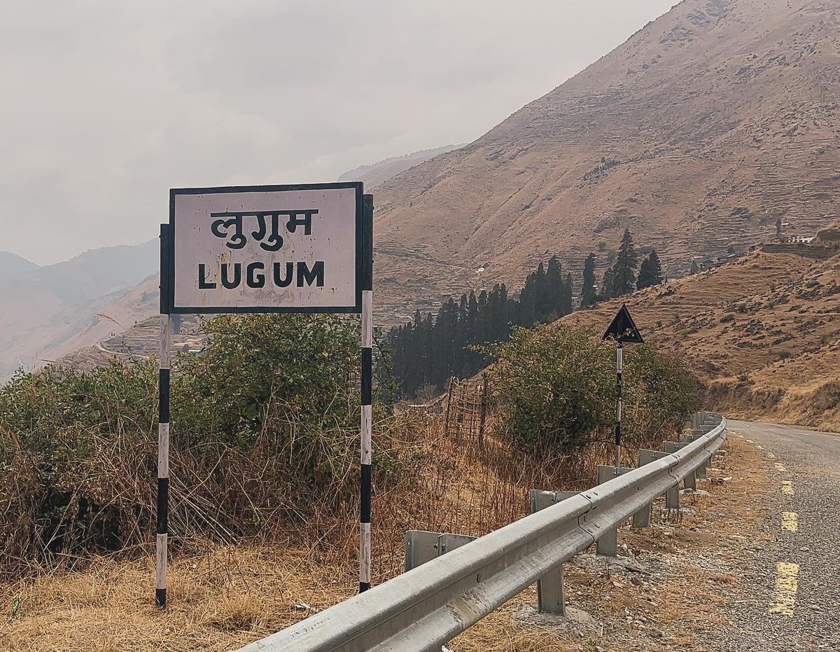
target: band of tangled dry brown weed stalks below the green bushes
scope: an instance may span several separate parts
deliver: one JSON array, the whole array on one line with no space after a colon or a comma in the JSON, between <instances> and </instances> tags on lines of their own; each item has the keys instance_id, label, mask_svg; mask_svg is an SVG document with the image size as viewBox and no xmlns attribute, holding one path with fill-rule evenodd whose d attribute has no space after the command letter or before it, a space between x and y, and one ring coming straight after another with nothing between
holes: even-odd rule
<instances>
[{"instance_id":1,"label":"band of tangled dry brown weed stalks below the green bushes","mask_svg":"<svg viewBox=\"0 0 840 652\"><path fill-rule=\"evenodd\" d=\"M176 554L204 539L248 539L312 549L320 563L352 568L358 434L325 426L318 436L301 436L285 406L272 402L267 409L266 426L247 455L223 444L184 449L173 438L170 524ZM458 415L449 413L449 419ZM588 488L596 466L612 454L604 432L575 455L535 458L506 441L500 424L501 414L492 407L480 430L447 429L444 411L416 409L375 424L375 581L402 571L406 530L486 534L525 516L531 489ZM155 446L151 437L135 433L86 434L87 455L63 479L69 499L58 523L37 522L43 460L18 447L0 485L4 576L72 570L91 553L149 552ZM14 446L10 434L2 436L7 447ZM300 475L322 481L300 479L302 460L314 468Z\"/></svg>"}]
</instances>

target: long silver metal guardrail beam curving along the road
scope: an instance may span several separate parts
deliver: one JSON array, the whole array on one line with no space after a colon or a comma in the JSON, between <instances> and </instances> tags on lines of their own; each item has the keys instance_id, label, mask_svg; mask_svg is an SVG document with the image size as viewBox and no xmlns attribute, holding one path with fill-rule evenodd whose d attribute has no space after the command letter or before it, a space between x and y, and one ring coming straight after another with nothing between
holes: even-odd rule
<instances>
[{"instance_id":1,"label":"long silver metal guardrail beam curving along the road","mask_svg":"<svg viewBox=\"0 0 840 652\"><path fill-rule=\"evenodd\" d=\"M705 413L703 420L709 431L696 433L677 452L475 539L240 652L439 652L705 465L726 437L726 419Z\"/></svg>"}]
</instances>

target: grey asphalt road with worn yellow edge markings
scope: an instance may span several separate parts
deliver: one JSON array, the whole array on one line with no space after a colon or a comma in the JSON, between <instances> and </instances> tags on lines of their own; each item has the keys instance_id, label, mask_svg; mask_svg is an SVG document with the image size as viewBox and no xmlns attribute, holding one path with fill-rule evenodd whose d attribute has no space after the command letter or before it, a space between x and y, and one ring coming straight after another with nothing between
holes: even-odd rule
<instances>
[{"instance_id":1,"label":"grey asphalt road with worn yellow edge markings","mask_svg":"<svg viewBox=\"0 0 840 652\"><path fill-rule=\"evenodd\" d=\"M840 435L793 426L729 422L770 465L767 544L744 560L754 599L728 605L735 626L715 649L840 651Z\"/></svg>"}]
</instances>

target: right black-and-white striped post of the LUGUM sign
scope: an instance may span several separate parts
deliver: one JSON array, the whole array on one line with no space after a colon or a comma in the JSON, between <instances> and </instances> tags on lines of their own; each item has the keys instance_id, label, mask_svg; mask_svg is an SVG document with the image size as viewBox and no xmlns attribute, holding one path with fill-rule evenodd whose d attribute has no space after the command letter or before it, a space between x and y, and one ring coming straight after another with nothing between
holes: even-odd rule
<instances>
[{"instance_id":1,"label":"right black-and-white striped post of the LUGUM sign","mask_svg":"<svg viewBox=\"0 0 840 652\"><path fill-rule=\"evenodd\" d=\"M359 592L370 588L370 476L373 428L373 195L364 196L362 210L362 378L361 378L361 486L359 518Z\"/></svg>"}]
</instances>

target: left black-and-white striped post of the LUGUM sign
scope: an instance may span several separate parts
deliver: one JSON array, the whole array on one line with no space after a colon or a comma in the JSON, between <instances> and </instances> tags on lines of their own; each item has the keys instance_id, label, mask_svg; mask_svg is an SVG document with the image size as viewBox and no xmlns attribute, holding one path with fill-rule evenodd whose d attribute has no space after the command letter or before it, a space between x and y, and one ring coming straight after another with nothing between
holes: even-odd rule
<instances>
[{"instance_id":1,"label":"left black-and-white striped post of the LUGUM sign","mask_svg":"<svg viewBox=\"0 0 840 652\"><path fill-rule=\"evenodd\" d=\"M160 225L160 370L158 372L158 499L155 542L155 603L166 607L166 555L169 544L169 383L171 313L169 301L169 224Z\"/></svg>"}]
</instances>

